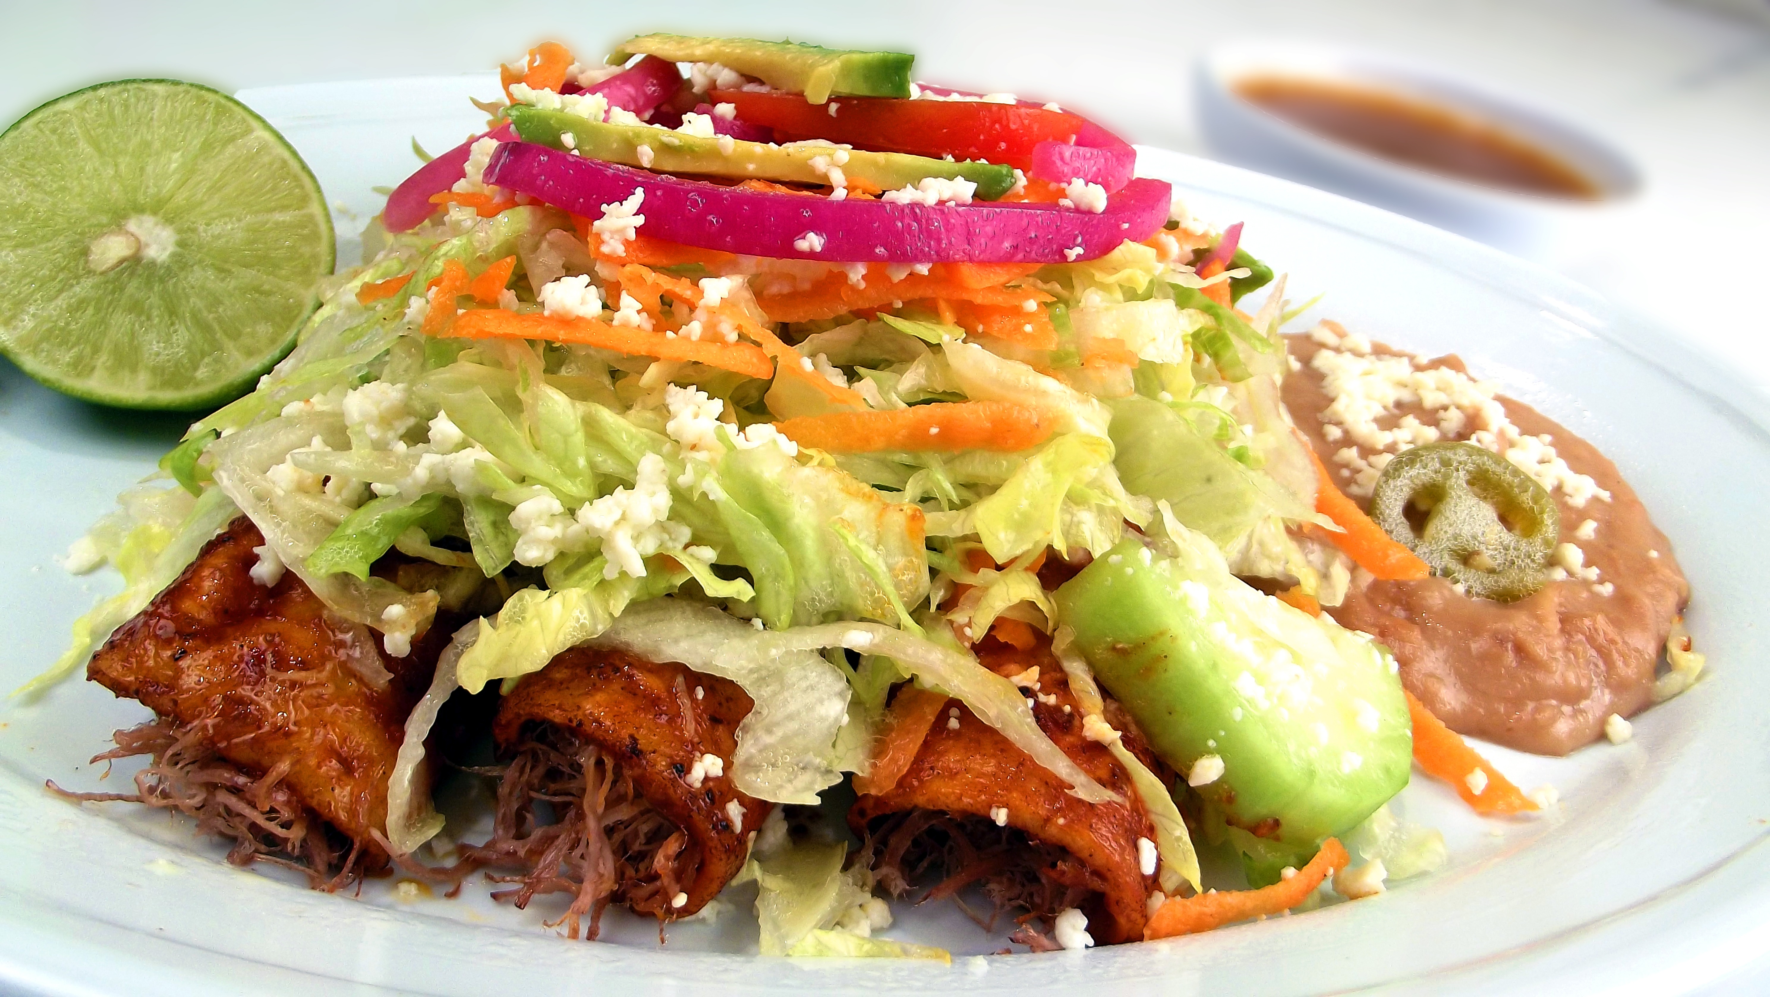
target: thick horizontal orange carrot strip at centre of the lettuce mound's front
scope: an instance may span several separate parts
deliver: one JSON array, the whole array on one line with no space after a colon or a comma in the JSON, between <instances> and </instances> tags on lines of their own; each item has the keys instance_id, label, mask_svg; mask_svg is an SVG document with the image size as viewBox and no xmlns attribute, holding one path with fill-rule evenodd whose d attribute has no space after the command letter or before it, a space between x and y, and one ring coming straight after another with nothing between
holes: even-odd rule
<instances>
[{"instance_id":1,"label":"thick horizontal orange carrot strip at centre of the lettuce mound's front","mask_svg":"<svg viewBox=\"0 0 1770 997\"><path fill-rule=\"evenodd\" d=\"M830 453L913 450L1018 453L1050 439L1051 421L1014 402L933 402L908 409L867 409L800 416L775 423L800 446Z\"/></svg>"}]
</instances>

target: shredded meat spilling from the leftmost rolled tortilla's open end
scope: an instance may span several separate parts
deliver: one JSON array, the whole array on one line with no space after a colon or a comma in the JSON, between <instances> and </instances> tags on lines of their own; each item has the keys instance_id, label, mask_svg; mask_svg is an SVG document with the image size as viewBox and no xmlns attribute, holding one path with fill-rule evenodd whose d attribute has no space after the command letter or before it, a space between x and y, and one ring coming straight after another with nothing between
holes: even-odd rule
<instances>
[{"instance_id":1,"label":"shredded meat spilling from the leftmost rolled tortilla's open end","mask_svg":"<svg viewBox=\"0 0 1770 997\"><path fill-rule=\"evenodd\" d=\"M354 882L363 873L363 843L340 834L301 800L285 779L292 765L250 772L221 756L212 728L211 721L154 719L112 735L117 747L94 756L94 763L150 756L135 774L133 793L71 793L53 781L48 786L81 802L122 800L182 813L196 820L198 832L232 839L227 861L235 866L296 869L308 885L327 893Z\"/></svg>"}]
</instances>

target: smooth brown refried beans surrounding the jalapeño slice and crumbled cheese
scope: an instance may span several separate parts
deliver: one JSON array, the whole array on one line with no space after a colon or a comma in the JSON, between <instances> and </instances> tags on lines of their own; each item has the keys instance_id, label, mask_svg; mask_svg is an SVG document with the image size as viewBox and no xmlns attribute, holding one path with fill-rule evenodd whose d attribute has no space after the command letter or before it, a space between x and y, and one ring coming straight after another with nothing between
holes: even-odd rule
<instances>
[{"instance_id":1,"label":"smooth brown refried beans surrounding the jalape\u00f1o slice and crumbled cheese","mask_svg":"<svg viewBox=\"0 0 1770 997\"><path fill-rule=\"evenodd\" d=\"M1347 494L1368 506L1370 471L1359 480L1358 460L1336 460L1354 441L1322 418L1333 398L1312 361L1324 342L1343 336L1331 322L1324 328L1319 338L1287 336L1299 367L1285 379L1285 406L1322 462L1343 487L1351 485ZM1365 356L1411 356L1358 336L1343 342L1356 342ZM1414 367L1467 374L1457 356ZM1393 650L1402 684L1451 730L1538 754L1566 754L1597 740L1611 714L1627 717L1653 703L1660 648L1690 588L1666 535L1611 460L1529 406L1496 400L1520 434L1547 434L1574 473L1609 492L1609 501L1595 496L1575 505L1566 489L1551 491L1561 512L1561 540L1575 544L1582 558L1559 558L1565 567L1554 581L1510 604L1471 599L1441 577L1377 581L1358 572L1345 602L1329 613ZM1446 441L1469 439L1480 429L1474 418L1441 421L1443 413L1409 400L1389 406L1377 425L1388 430L1414 416L1411 427L1437 427ZM1375 453L1368 446L1356 450L1366 460Z\"/></svg>"}]
</instances>

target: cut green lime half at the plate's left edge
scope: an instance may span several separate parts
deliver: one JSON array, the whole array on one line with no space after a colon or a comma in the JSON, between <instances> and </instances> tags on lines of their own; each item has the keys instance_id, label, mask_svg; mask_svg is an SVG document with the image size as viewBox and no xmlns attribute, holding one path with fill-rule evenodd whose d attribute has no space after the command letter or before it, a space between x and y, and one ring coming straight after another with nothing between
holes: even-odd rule
<instances>
[{"instance_id":1,"label":"cut green lime half at the plate's left edge","mask_svg":"<svg viewBox=\"0 0 1770 997\"><path fill-rule=\"evenodd\" d=\"M122 80L0 135L0 352L69 395L198 409L294 345L333 228L301 156L196 83Z\"/></svg>"}]
</instances>

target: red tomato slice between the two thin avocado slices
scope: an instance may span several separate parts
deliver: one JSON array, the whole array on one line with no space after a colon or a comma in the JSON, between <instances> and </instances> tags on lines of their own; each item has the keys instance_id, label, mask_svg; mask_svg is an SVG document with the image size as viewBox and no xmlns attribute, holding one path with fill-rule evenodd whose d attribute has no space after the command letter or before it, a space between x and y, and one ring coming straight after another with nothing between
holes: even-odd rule
<instances>
[{"instance_id":1,"label":"red tomato slice between the two thin avocado slices","mask_svg":"<svg viewBox=\"0 0 1770 997\"><path fill-rule=\"evenodd\" d=\"M740 120L772 128L779 142L828 138L874 152L988 159L1021 170L1032 168L1037 143L1073 143L1087 126L1067 112L982 101L832 97L809 104L800 94L747 90L713 90L708 99L735 104Z\"/></svg>"}]
</instances>

